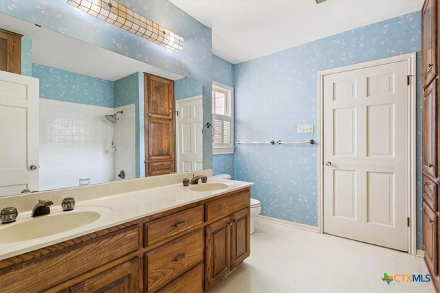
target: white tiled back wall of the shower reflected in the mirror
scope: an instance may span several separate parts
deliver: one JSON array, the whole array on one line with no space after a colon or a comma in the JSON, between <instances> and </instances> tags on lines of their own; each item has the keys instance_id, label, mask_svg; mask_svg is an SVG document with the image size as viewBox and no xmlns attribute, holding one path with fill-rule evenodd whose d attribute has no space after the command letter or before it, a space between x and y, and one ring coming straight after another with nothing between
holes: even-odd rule
<instances>
[{"instance_id":1,"label":"white tiled back wall of the shower reflected in the mirror","mask_svg":"<svg viewBox=\"0 0 440 293\"><path fill-rule=\"evenodd\" d=\"M113 180L113 108L40 99L39 189ZM94 162L91 164L90 162Z\"/></svg>"}]
</instances>

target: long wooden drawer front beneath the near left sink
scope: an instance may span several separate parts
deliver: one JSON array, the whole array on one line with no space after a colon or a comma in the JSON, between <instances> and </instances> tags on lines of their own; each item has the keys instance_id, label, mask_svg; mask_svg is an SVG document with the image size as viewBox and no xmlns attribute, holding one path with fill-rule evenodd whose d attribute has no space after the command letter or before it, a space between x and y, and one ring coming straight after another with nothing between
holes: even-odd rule
<instances>
[{"instance_id":1,"label":"long wooden drawer front beneath the near left sink","mask_svg":"<svg viewBox=\"0 0 440 293\"><path fill-rule=\"evenodd\" d=\"M44 292L139 248L138 226L124 228L1 272L1 292Z\"/></svg>"}]
</instances>

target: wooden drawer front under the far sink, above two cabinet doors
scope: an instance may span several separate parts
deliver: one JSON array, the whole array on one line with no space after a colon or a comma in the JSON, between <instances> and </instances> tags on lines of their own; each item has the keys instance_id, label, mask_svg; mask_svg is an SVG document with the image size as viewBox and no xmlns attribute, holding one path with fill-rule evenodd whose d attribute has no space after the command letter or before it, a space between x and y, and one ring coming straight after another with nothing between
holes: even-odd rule
<instances>
[{"instance_id":1,"label":"wooden drawer front under the far sink, above two cabinet doors","mask_svg":"<svg viewBox=\"0 0 440 293\"><path fill-rule=\"evenodd\" d=\"M205 204L205 221L223 218L250 206L249 189Z\"/></svg>"}]
</instances>

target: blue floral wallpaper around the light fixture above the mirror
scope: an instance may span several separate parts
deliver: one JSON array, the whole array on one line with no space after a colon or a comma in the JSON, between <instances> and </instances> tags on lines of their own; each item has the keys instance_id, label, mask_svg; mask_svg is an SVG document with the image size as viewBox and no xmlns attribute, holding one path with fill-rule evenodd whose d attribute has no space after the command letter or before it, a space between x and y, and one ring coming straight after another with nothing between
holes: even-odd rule
<instances>
[{"instance_id":1,"label":"blue floral wallpaper around the light fixture above the mirror","mask_svg":"<svg viewBox=\"0 0 440 293\"><path fill-rule=\"evenodd\" d=\"M118 2L184 37L184 50L178 53L169 51L85 14L66 1L3 0L0 1L0 12L38 23L50 30L201 81L203 108L206 109L203 111L203 120L211 121L211 29L166 0L118 0ZM212 141L208 138L203 138L203 167L212 167Z\"/></svg>"}]
</instances>

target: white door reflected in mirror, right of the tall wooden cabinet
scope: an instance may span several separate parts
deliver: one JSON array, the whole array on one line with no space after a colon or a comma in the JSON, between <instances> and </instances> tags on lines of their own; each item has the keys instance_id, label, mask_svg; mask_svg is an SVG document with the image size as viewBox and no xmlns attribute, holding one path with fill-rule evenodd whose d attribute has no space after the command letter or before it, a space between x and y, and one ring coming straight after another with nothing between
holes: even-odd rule
<instances>
[{"instance_id":1,"label":"white door reflected in mirror, right of the tall wooden cabinet","mask_svg":"<svg viewBox=\"0 0 440 293\"><path fill-rule=\"evenodd\" d=\"M177 172L203 169L202 97L176 101Z\"/></svg>"}]
</instances>

